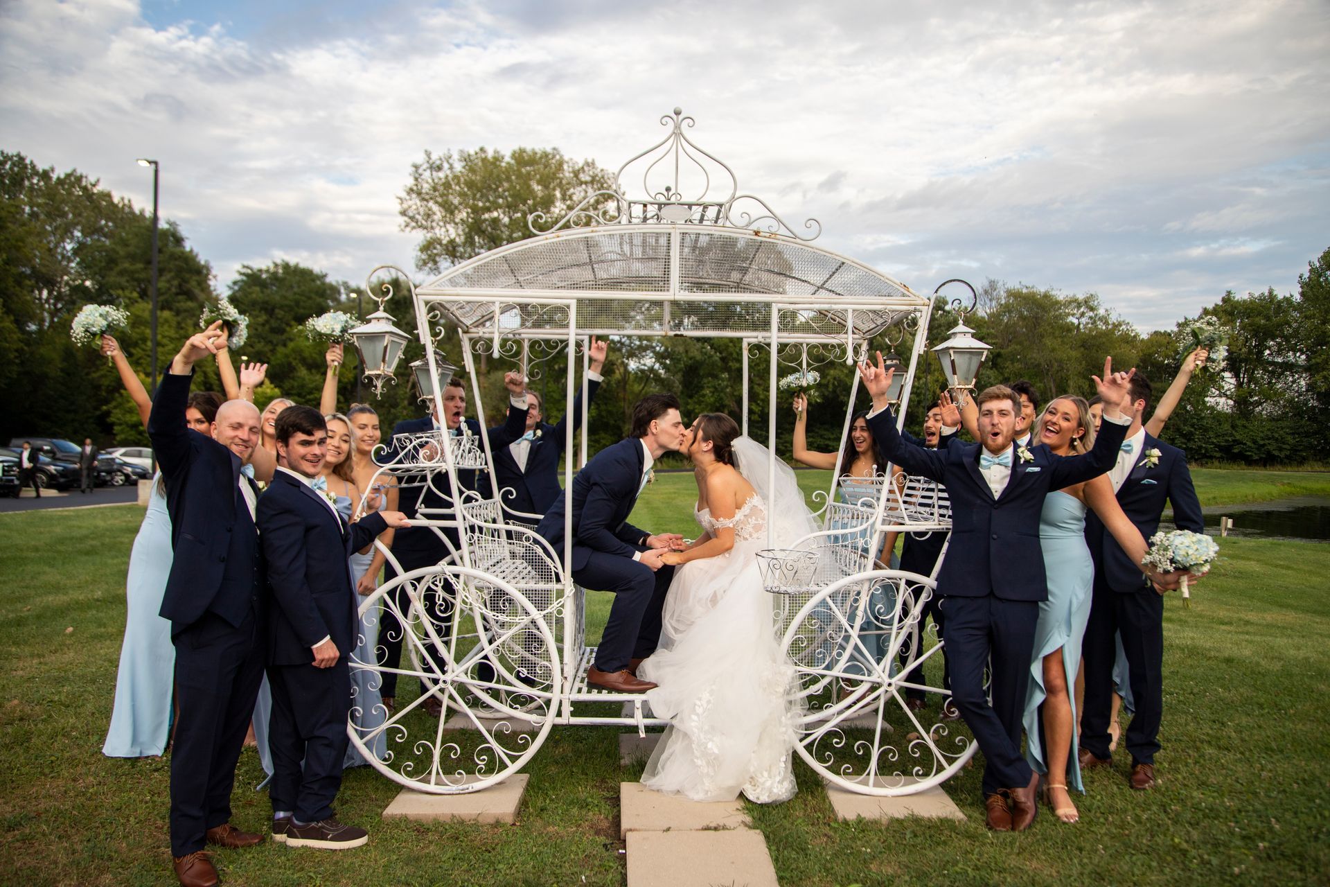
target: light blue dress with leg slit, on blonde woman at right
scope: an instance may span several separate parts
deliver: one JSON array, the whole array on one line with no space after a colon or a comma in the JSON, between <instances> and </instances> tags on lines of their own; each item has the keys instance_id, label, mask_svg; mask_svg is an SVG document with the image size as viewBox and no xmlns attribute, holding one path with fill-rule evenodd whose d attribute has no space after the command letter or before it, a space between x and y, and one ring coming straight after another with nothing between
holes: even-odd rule
<instances>
[{"instance_id":1,"label":"light blue dress with leg slit, on blonde woman at right","mask_svg":"<svg viewBox=\"0 0 1330 887\"><path fill-rule=\"evenodd\" d=\"M1055 491L1044 499L1039 516L1039 544L1044 549L1044 573L1048 581L1048 600L1039 605L1035 625L1035 660L1029 666L1029 689L1025 692L1025 761L1037 773L1048 773L1044 761L1041 718L1044 657L1063 650L1063 672L1068 688L1080 668L1081 640L1089 622L1091 592L1095 584L1095 565L1085 545L1085 504L1069 493ZM1072 723L1076 723L1076 697L1071 696ZM1076 759L1076 730L1072 729L1072 747L1067 758L1067 785L1081 787L1080 765ZM1051 777L1057 779L1057 774Z\"/></svg>"}]
</instances>

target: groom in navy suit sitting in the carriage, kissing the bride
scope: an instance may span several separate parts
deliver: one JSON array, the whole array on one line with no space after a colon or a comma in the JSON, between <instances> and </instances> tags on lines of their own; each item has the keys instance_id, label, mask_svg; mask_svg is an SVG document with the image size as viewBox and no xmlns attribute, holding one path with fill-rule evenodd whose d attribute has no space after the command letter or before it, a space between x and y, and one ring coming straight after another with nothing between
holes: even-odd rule
<instances>
[{"instance_id":1,"label":"groom in navy suit sitting in the carriage, kissing the bride","mask_svg":"<svg viewBox=\"0 0 1330 887\"><path fill-rule=\"evenodd\" d=\"M629 524L628 516L652 479L652 464L684 447L688 428L678 410L672 394L642 398L633 407L632 436L592 456L573 479L572 560L567 565L579 585L614 592L596 662L587 670L587 682L606 690L645 693L656 686L637 680L633 670L660 641L661 608L674 574L661 555L682 545L684 537L648 533ZM564 496L551 504L536 532L564 557Z\"/></svg>"}]
</instances>

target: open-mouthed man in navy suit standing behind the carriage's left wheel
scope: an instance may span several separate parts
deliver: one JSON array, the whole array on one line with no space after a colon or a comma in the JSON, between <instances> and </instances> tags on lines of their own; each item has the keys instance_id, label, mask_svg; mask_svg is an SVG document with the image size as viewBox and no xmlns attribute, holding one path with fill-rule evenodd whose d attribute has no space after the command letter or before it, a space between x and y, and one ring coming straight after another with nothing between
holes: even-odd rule
<instances>
[{"instance_id":1,"label":"open-mouthed man in navy suit standing behind the carriage's left wheel","mask_svg":"<svg viewBox=\"0 0 1330 887\"><path fill-rule=\"evenodd\" d=\"M450 435L460 435L466 432L480 435L480 423L475 419L466 419L464 414L467 411L467 390L462 384L462 379L454 376L448 380L448 384L443 388L443 418L435 415L431 399L430 415L423 419L406 419L399 422L392 427L392 440L388 442L388 448L383 456L379 457L379 463L383 465L392 465L402 457L402 449L398 445L398 435L418 435L428 431L443 431L447 430ZM416 475L411 477L407 475L403 477L399 475L399 480L406 480L407 485L399 493L399 504L402 512L407 519L412 519L419 513L420 508L444 508L448 505L448 497L452 493L452 480L448 477L447 472L438 472L430 483L426 483L424 475ZM481 495L488 496L488 487L481 489L481 484L488 484L488 476L472 468L458 469L458 483L462 484L463 489L480 491ZM435 512L428 515L432 520L447 519L448 513ZM455 527L447 527L442 529L443 535L452 543L454 548L460 545L458 540L458 531ZM412 529L403 529L394 533L392 537L392 556L398 559L402 564L402 570L410 573L414 569L422 567L434 567L435 564L450 557L451 552L448 545L439 539L438 532L431 527L415 527ZM384 570L384 578L391 580L398 572L388 564ZM396 592L394 592L398 608L402 613L407 613L410 609L410 598L407 596L407 589L404 585L399 585ZM424 600L422 601L430 618L434 621L435 630L440 636L447 636L448 626L452 622L452 612L446 609L444 604L439 600L439 593L428 590L424 593ZM384 669L396 669L402 662L402 640L403 629L398 622L398 617L388 608L383 608L383 617L379 625L379 646L383 648L383 662L380 664ZM383 703L388 706L388 710L396 703L398 694L398 676L392 672L383 672L382 674L383 685L380 686L380 693L383 697ZM420 692L424 693L428 686L424 681L420 682ZM443 713L443 703L435 698L430 697L424 701L423 707L431 715L439 715Z\"/></svg>"}]
</instances>

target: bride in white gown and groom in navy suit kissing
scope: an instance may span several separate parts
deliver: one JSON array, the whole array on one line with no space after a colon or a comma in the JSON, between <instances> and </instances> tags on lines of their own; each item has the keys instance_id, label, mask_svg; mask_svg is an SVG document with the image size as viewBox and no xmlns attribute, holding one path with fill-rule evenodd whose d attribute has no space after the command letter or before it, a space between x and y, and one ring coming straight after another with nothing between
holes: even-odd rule
<instances>
[{"instance_id":1,"label":"bride in white gown and groom in navy suit kissing","mask_svg":"<svg viewBox=\"0 0 1330 887\"><path fill-rule=\"evenodd\" d=\"M633 407L630 435L596 453L572 483L571 515L557 499L536 532L564 557L571 531L573 580L614 593L591 685L645 693L653 717L670 723L642 782L698 801L757 802L794 794L786 688L793 669L771 629L757 552L815 532L794 472L741 436L724 414L692 426L670 394ZM665 452L696 467L701 536L652 533L628 523Z\"/></svg>"}]
</instances>

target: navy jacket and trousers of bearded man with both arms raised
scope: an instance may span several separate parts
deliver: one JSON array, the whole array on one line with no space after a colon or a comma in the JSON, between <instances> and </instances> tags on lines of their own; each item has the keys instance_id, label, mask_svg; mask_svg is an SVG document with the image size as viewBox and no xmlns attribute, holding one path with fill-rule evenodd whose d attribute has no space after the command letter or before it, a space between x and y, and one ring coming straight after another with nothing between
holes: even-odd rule
<instances>
[{"instance_id":1,"label":"navy jacket and trousers of bearded man with both arms raised","mask_svg":"<svg viewBox=\"0 0 1330 887\"><path fill-rule=\"evenodd\" d=\"M1028 448L1031 457L1023 460L1012 445L1011 476L996 499L979 471L980 444L951 440L946 449L911 447L896 432L890 410L870 416L868 428L894 464L947 488L951 543L938 573L938 594L947 621L952 701L984 753L984 794L1024 787L1032 773L1020 751L1021 715L1039 602L1048 598L1039 515L1051 491L1113 465L1127 426L1104 422L1084 456L1063 459L1040 444Z\"/></svg>"}]
</instances>

